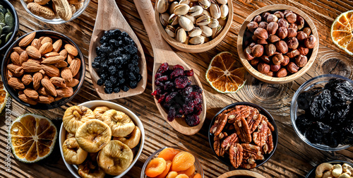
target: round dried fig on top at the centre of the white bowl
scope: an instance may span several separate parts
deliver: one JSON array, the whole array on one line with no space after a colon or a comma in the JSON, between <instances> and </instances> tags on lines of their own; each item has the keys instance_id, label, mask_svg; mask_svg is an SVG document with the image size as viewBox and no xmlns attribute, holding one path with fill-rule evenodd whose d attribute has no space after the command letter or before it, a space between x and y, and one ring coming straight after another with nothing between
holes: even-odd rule
<instances>
[{"instance_id":1,"label":"round dried fig on top at the centre of the white bowl","mask_svg":"<svg viewBox=\"0 0 353 178\"><path fill-rule=\"evenodd\" d=\"M78 127L75 138L80 148L88 153L97 153L110 141L112 131L103 121L91 119Z\"/></svg>"}]
</instances>

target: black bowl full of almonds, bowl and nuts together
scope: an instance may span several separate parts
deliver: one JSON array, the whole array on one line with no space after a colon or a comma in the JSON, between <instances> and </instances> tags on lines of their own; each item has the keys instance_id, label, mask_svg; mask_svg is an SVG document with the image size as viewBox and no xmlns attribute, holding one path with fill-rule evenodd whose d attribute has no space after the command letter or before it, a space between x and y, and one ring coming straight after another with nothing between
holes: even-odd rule
<instances>
[{"instance_id":1,"label":"black bowl full of almonds, bowl and nuts together","mask_svg":"<svg viewBox=\"0 0 353 178\"><path fill-rule=\"evenodd\" d=\"M11 97L34 109L53 109L70 101L85 78L85 60L65 35L39 30L8 48L1 78Z\"/></svg>"}]
</instances>

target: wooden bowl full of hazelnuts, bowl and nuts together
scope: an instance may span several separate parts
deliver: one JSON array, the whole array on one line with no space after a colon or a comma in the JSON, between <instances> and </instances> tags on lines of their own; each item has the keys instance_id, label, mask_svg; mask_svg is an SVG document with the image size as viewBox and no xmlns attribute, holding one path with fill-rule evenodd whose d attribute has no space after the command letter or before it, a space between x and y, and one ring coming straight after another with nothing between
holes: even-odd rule
<instances>
[{"instance_id":1,"label":"wooden bowl full of hazelnuts, bowl and nuts together","mask_svg":"<svg viewBox=\"0 0 353 178\"><path fill-rule=\"evenodd\" d=\"M241 63L266 83L288 83L301 77L318 54L318 31L303 11L272 5L251 13L238 35Z\"/></svg>"}]
</instances>

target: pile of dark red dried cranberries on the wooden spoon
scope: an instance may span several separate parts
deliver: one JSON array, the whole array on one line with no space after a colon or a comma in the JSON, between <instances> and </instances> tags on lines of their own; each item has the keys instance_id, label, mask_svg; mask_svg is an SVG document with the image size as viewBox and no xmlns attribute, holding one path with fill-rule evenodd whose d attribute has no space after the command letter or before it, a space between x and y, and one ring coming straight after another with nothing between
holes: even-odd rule
<instances>
[{"instance_id":1,"label":"pile of dark red dried cranberries on the wooden spoon","mask_svg":"<svg viewBox=\"0 0 353 178\"><path fill-rule=\"evenodd\" d=\"M168 121L185 117L186 124L197 126L200 124L199 115L202 112L202 89L198 85L191 85L188 76L193 76L193 70L184 71L180 65L169 69L163 63L155 73L157 89L152 93L158 103L167 109Z\"/></svg>"}]
</instances>

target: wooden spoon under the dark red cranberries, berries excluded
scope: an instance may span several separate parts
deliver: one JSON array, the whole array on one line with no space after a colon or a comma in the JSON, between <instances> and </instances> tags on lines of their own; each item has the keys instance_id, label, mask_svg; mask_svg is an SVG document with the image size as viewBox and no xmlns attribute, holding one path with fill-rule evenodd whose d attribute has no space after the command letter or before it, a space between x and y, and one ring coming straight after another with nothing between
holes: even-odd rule
<instances>
[{"instance_id":1,"label":"wooden spoon under the dark red cranberries, berries excluded","mask_svg":"<svg viewBox=\"0 0 353 178\"><path fill-rule=\"evenodd\" d=\"M155 21L155 11L152 8L150 0L134 0L140 18L145 25L145 29L150 38L150 43L153 49L153 57L155 61L153 63L153 80L152 80L152 90L155 90L155 73L160 68L160 65L164 62L167 62L169 66L181 65L184 66L185 70L190 70L191 68L186 64L180 57L175 54L172 48L169 47L168 43L165 42L160 34L160 31L157 28L157 23ZM189 77L192 82L192 85L198 85L202 88L201 82L198 80L196 75ZM203 121L205 121L206 116L206 100L205 93L203 93L203 112L200 114L200 124L197 126L188 126L184 118L174 119L174 121L168 121L166 110L158 103L155 99L158 110L162 117L177 131L186 135L193 135L197 133L203 126Z\"/></svg>"}]
</instances>

